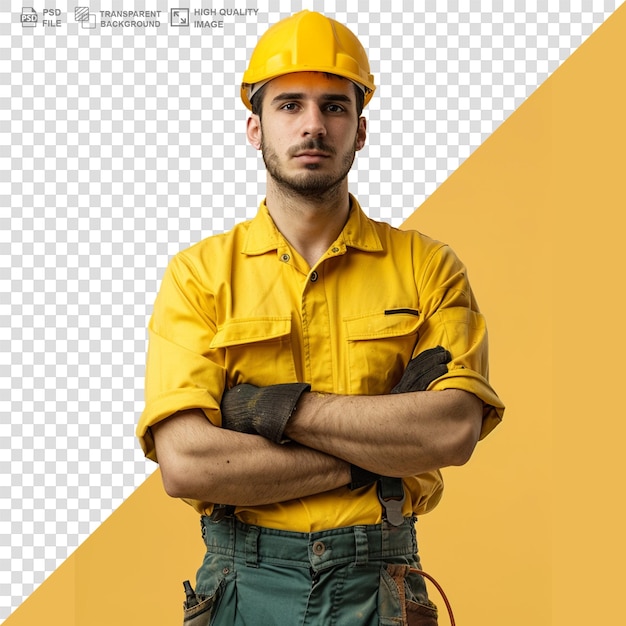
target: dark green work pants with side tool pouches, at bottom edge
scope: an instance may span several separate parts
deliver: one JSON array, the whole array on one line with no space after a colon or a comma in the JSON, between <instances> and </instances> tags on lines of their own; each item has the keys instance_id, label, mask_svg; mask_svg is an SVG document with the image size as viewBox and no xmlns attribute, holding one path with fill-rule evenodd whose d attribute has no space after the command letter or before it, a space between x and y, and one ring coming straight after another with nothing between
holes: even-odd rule
<instances>
[{"instance_id":1,"label":"dark green work pants with side tool pouches, at bottom edge","mask_svg":"<svg viewBox=\"0 0 626 626\"><path fill-rule=\"evenodd\" d=\"M196 576L200 604L186 611L185 626L437 623L422 577L409 572L420 568L414 518L315 533L232 517L205 516L201 525L207 552Z\"/></svg>"}]
</instances>

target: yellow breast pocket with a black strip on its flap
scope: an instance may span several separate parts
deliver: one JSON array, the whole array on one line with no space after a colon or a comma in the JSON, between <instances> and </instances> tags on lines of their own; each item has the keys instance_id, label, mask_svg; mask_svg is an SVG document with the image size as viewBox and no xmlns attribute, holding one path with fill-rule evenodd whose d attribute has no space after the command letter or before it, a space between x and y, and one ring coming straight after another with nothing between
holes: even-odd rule
<instances>
[{"instance_id":1,"label":"yellow breast pocket with a black strip on its flap","mask_svg":"<svg viewBox=\"0 0 626 626\"><path fill-rule=\"evenodd\" d=\"M392 309L344 319L350 393L388 393L413 355L421 319L413 309Z\"/></svg>"}]
</instances>

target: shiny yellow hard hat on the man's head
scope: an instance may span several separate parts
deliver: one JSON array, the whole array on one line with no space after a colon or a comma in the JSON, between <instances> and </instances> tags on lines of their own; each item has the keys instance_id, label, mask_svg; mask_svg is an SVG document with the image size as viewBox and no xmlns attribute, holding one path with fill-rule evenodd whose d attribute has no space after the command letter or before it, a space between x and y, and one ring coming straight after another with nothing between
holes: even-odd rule
<instances>
[{"instance_id":1,"label":"shiny yellow hard hat on the man's head","mask_svg":"<svg viewBox=\"0 0 626 626\"><path fill-rule=\"evenodd\" d=\"M243 103L252 109L250 90L255 84L294 72L343 76L362 87L364 106L376 89L367 53L354 33L313 11L300 11L281 20L259 39L243 75Z\"/></svg>"}]
</instances>

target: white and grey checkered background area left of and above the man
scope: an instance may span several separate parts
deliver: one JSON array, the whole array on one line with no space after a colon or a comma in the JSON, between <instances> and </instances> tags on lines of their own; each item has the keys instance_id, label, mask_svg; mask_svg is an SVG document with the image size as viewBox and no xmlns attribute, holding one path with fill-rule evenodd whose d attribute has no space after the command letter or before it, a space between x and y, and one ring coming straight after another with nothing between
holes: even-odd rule
<instances>
[{"instance_id":1,"label":"white and grey checkered background area left of and above the man","mask_svg":"<svg viewBox=\"0 0 626 626\"><path fill-rule=\"evenodd\" d=\"M102 28L101 4L156 4L162 25ZM155 469L134 438L145 327L171 255L252 217L263 196L237 81L269 24L322 11L369 50L379 88L352 190L400 225L618 5L77 0L57 2L53 29L41 0L4 0L0 621ZM258 14L169 26L180 6L192 20L201 7Z\"/></svg>"}]
</instances>

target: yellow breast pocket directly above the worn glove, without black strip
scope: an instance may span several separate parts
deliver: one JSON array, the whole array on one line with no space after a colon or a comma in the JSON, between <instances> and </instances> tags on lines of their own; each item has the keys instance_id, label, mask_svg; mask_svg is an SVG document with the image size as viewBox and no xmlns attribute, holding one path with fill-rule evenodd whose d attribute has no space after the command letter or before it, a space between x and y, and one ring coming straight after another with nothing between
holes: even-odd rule
<instances>
[{"instance_id":1,"label":"yellow breast pocket directly above the worn glove, without black strip","mask_svg":"<svg viewBox=\"0 0 626 626\"><path fill-rule=\"evenodd\" d=\"M211 348L222 350L227 387L297 381L291 317L232 319L218 328Z\"/></svg>"}]
</instances>

